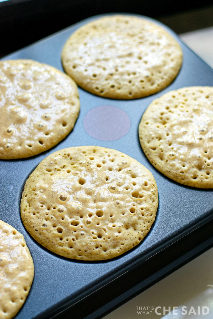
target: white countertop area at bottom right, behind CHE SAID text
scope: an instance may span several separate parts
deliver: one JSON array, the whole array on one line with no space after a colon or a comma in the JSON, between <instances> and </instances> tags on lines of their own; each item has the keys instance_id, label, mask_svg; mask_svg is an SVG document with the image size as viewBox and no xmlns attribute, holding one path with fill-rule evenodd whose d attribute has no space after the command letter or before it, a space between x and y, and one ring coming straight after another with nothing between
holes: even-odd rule
<instances>
[{"instance_id":1,"label":"white countertop area at bottom right, behind CHE SAID text","mask_svg":"<svg viewBox=\"0 0 213 319\"><path fill-rule=\"evenodd\" d=\"M194 315L194 311L198 313L198 306L200 312L202 307L206 307L203 309L204 312L208 312L209 308L209 314ZM146 314L140 315L139 307L142 307L142 311ZM148 310L143 310L144 307ZM171 310L177 307L178 315L168 315L168 311L164 315L164 309L167 310L169 307ZM182 307L185 307L187 313L191 309L191 315L181 315L181 312L185 313L184 309L181 310ZM156 314L155 311L162 315ZM187 317L190 319L213 318L213 248L111 312L104 319L186 319Z\"/></svg>"}]
</instances>

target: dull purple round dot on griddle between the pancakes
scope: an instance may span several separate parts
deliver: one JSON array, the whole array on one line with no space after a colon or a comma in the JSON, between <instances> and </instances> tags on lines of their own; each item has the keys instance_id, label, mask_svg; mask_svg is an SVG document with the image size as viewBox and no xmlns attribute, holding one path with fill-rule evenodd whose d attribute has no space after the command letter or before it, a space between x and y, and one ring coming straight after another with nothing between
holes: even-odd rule
<instances>
[{"instance_id":1,"label":"dull purple round dot on griddle between the pancakes","mask_svg":"<svg viewBox=\"0 0 213 319\"><path fill-rule=\"evenodd\" d=\"M97 140L115 141L128 133L130 118L115 106L98 106L85 115L84 129Z\"/></svg>"}]
</instances>

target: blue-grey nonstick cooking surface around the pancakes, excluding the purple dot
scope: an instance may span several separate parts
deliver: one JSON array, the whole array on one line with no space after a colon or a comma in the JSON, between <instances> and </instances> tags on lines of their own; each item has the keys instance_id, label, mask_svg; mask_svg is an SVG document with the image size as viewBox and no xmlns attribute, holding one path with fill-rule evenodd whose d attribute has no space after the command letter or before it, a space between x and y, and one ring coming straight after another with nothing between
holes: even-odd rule
<instances>
[{"instance_id":1,"label":"blue-grey nonstick cooking surface around the pancakes, excluding the purple dot","mask_svg":"<svg viewBox=\"0 0 213 319\"><path fill-rule=\"evenodd\" d=\"M79 26L95 18L97 17L86 19L6 56L3 60L33 59L63 70L61 51L65 41ZM171 85L159 93L137 100L106 99L79 88L80 116L72 132L62 142L32 158L0 161L0 219L24 235L35 267L32 288L24 306L16 316L17 319L50 318L58 312L58 309L65 307L65 303L72 304L87 296L213 218L213 190L194 189L171 181L149 163L139 143L138 125L151 101L168 91L184 86L213 86L213 70L187 48L170 29L153 19L149 20L163 26L182 47L183 65ZM130 119L128 133L110 141L97 140L89 136L84 129L85 115L89 110L99 106L116 107L126 112ZM20 218L21 193L29 174L52 152L79 145L99 145L124 152L146 166L156 179L159 207L150 232L137 247L108 261L82 262L57 256L34 241Z\"/></svg>"}]
</instances>

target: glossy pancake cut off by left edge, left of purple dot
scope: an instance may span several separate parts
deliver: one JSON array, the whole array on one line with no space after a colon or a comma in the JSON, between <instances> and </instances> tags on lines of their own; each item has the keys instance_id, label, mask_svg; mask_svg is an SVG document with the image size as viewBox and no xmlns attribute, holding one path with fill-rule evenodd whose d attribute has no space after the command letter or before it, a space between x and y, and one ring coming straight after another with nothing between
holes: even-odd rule
<instances>
[{"instance_id":1,"label":"glossy pancake cut off by left edge, left of purple dot","mask_svg":"<svg viewBox=\"0 0 213 319\"><path fill-rule=\"evenodd\" d=\"M0 62L0 159L39 154L72 130L80 110L65 73L32 60Z\"/></svg>"}]
</instances>

